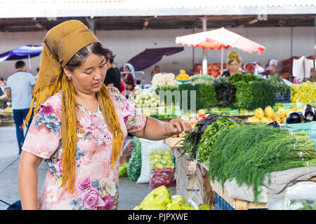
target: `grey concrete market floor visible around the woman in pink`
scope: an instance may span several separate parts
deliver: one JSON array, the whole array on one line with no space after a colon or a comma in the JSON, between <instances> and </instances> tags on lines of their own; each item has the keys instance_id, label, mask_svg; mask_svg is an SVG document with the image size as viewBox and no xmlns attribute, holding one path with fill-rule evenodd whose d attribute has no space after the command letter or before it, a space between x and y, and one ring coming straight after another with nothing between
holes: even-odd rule
<instances>
[{"instance_id":1,"label":"grey concrete market floor visible around the woman in pink","mask_svg":"<svg viewBox=\"0 0 316 224\"><path fill-rule=\"evenodd\" d=\"M0 127L0 200L12 204L20 200L18 190L18 143L15 136L15 126ZM41 162L38 169L39 185L41 190L48 166ZM169 187L176 195L176 187ZM149 183L129 181L128 177L119 179L119 209L131 210L138 206L143 198L152 191ZM0 210L6 210L8 205L0 202Z\"/></svg>"}]
</instances>

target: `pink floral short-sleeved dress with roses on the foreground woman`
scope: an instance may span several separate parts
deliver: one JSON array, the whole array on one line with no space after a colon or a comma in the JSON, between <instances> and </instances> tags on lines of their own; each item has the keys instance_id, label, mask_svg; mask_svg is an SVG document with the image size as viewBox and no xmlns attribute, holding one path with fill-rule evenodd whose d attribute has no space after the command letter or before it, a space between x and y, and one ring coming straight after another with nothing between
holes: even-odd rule
<instances>
[{"instance_id":1,"label":"pink floral short-sleeved dress with roses on the foreground woman","mask_svg":"<svg viewBox=\"0 0 316 224\"><path fill-rule=\"evenodd\" d=\"M121 95L115 87L108 87L124 132L124 146L128 132L143 129L146 116ZM96 113L79 105L76 170L74 192L61 186L61 94L50 97L32 120L22 150L44 158L48 172L38 195L39 209L118 209L119 160L111 169L112 134L107 128L100 108Z\"/></svg>"}]
</instances>

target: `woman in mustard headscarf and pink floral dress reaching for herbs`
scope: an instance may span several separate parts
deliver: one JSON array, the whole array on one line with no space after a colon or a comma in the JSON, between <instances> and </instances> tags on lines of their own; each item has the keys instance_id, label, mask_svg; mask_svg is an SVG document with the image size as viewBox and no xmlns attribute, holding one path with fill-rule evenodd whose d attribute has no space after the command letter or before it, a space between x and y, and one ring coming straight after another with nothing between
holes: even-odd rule
<instances>
[{"instance_id":1,"label":"woman in mustard headscarf and pink floral dress reaching for herbs","mask_svg":"<svg viewBox=\"0 0 316 224\"><path fill-rule=\"evenodd\" d=\"M127 133L159 140L191 130L180 119L146 117L117 88L106 87L108 54L78 20L46 34L34 119L20 155L22 209L118 209L119 156ZM49 169L37 195L43 159Z\"/></svg>"}]
</instances>

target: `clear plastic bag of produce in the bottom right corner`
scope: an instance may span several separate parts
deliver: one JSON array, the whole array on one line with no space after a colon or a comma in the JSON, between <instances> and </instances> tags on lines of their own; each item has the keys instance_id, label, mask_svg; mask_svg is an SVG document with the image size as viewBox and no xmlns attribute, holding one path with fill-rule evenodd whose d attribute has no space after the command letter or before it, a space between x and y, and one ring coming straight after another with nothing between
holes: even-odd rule
<instances>
[{"instance_id":1,"label":"clear plastic bag of produce in the bottom right corner","mask_svg":"<svg viewBox=\"0 0 316 224\"><path fill-rule=\"evenodd\" d=\"M287 188L284 210L316 210L316 183L298 182Z\"/></svg>"}]
</instances>

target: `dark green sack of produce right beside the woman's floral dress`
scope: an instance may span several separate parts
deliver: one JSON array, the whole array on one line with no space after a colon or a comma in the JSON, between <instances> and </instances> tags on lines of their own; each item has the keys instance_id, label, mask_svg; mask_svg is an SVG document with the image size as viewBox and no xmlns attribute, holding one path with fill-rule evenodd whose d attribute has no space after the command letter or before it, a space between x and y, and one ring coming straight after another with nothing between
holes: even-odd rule
<instances>
[{"instance_id":1,"label":"dark green sack of produce right beside the woman's floral dress","mask_svg":"<svg viewBox=\"0 0 316 224\"><path fill-rule=\"evenodd\" d=\"M130 181L137 181L142 169L142 151L140 141L137 142L136 148L131 153L131 159L126 166L127 176Z\"/></svg>"}]
</instances>

